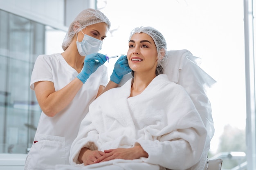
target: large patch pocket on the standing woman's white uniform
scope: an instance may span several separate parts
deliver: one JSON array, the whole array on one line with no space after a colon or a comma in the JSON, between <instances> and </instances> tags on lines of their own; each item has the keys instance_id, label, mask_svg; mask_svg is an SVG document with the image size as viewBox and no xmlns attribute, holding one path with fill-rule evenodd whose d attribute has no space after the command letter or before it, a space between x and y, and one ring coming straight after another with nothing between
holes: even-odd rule
<instances>
[{"instance_id":1,"label":"large patch pocket on the standing woman's white uniform","mask_svg":"<svg viewBox=\"0 0 256 170\"><path fill-rule=\"evenodd\" d=\"M36 133L25 163L26 170L43 170L65 164L65 137Z\"/></svg>"}]
</instances>

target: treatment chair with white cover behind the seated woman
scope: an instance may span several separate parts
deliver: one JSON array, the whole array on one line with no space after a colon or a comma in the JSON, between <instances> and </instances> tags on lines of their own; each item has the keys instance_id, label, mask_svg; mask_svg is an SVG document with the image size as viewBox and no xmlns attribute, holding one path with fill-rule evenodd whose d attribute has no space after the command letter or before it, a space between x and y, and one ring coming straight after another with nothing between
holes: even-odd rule
<instances>
[{"instance_id":1,"label":"treatment chair with white cover behind the seated woman","mask_svg":"<svg viewBox=\"0 0 256 170\"><path fill-rule=\"evenodd\" d=\"M210 149L210 141L214 134L213 119L211 115L211 103L206 95L207 89L216 81L200 68L201 58L195 57L186 49L167 51L167 58L162 62L164 74L171 82L180 84L189 93L204 125L207 128L207 144L204 150ZM119 86L123 85L132 75L124 75ZM221 159L207 160L207 152L204 153L207 162L204 170L220 170Z\"/></svg>"}]
</instances>

